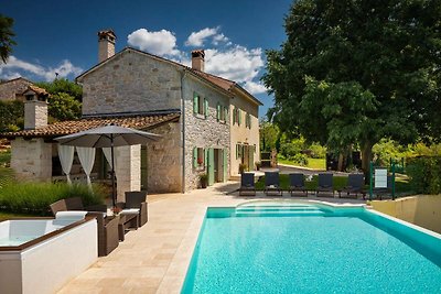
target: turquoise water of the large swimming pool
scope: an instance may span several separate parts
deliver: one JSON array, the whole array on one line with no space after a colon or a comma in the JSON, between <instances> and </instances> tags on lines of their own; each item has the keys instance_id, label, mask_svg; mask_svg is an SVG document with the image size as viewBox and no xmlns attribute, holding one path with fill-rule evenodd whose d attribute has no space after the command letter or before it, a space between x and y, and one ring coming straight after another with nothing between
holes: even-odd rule
<instances>
[{"instance_id":1,"label":"turquoise water of the large swimming pool","mask_svg":"<svg viewBox=\"0 0 441 294\"><path fill-rule=\"evenodd\" d=\"M208 208L182 293L441 293L441 240L363 208Z\"/></svg>"}]
</instances>

